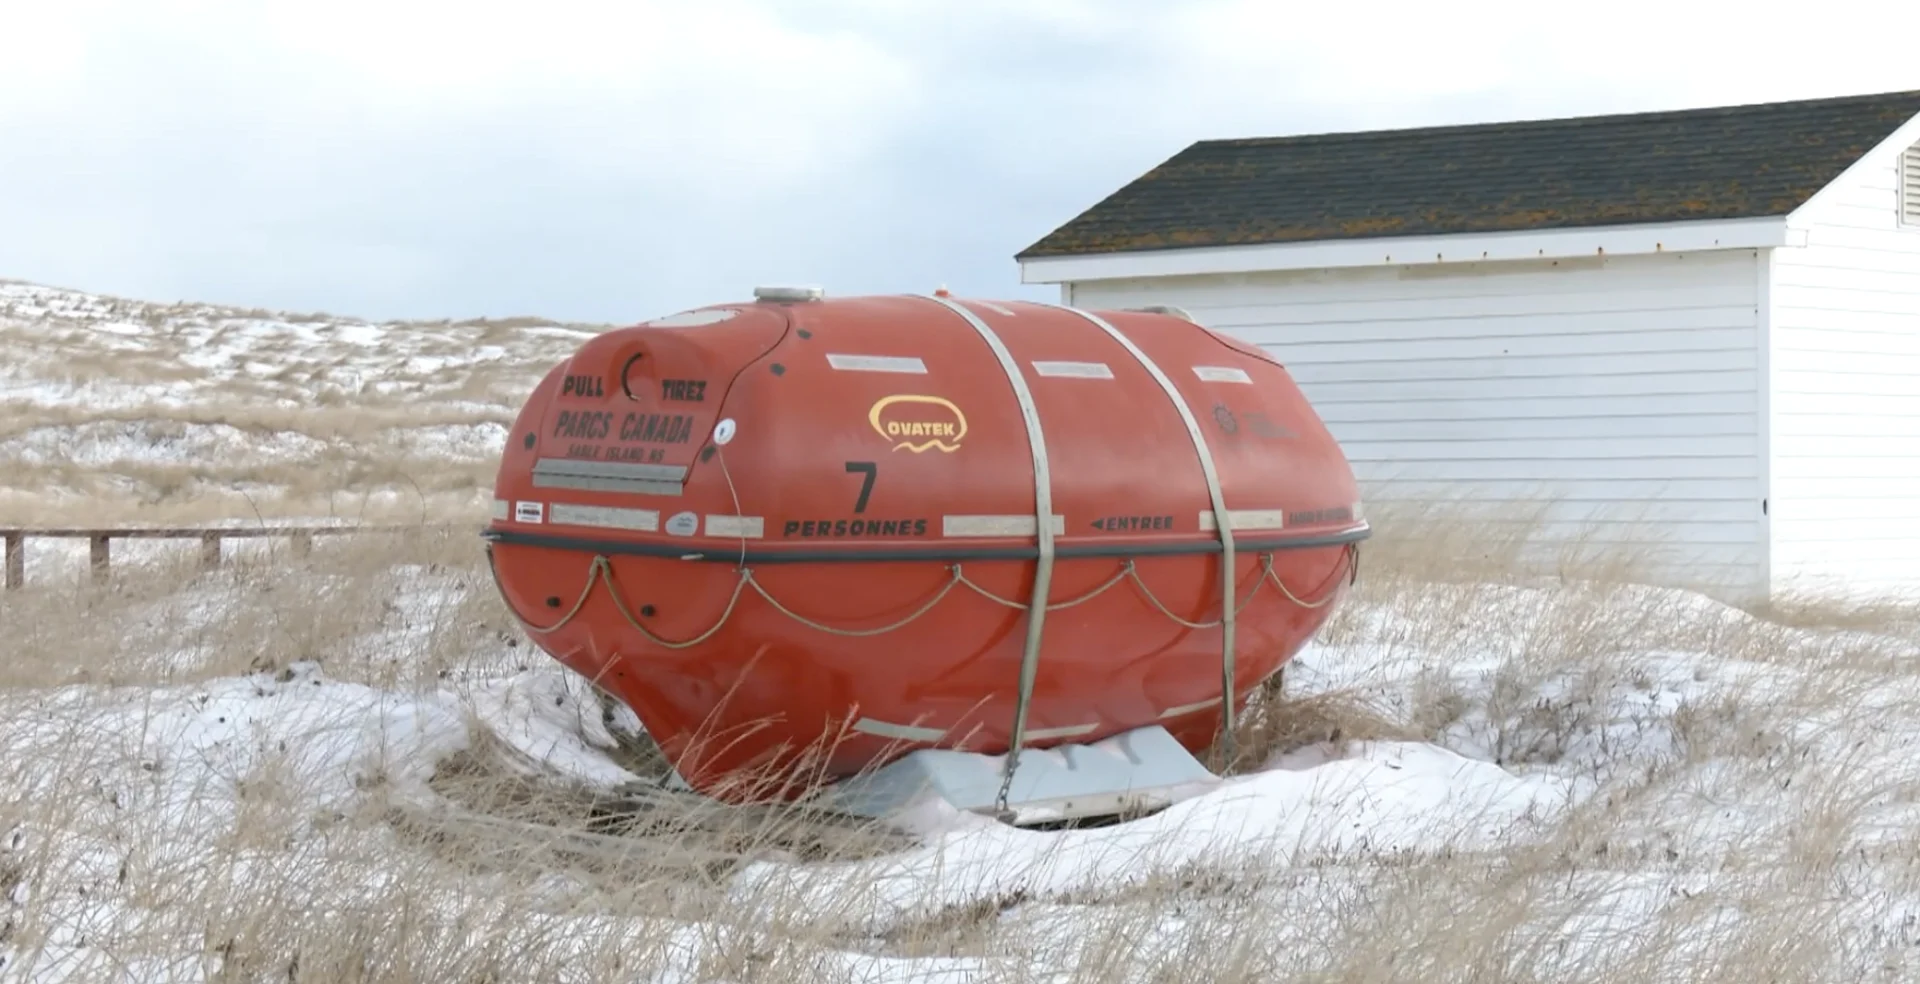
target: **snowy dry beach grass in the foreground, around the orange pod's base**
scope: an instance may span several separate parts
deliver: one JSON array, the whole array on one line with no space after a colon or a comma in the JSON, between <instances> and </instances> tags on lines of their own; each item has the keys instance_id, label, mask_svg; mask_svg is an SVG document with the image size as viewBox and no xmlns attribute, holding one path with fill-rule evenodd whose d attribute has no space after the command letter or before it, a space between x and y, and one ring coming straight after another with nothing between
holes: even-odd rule
<instances>
[{"instance_id":1,"label":"snowy dry beach grass in the foreground, around the orange pod's base","mask_svg":"<svg viewBox=\"0 0 1920 984\"><path fill-rule=\"evenodd\" d=\"M1622 563L1536 582L1507 548L1467 567L1421 532L1465 542L1457 521L1379 525L1356 596L1288 696L1242 723L1242 748L1304 769L1430 742L1551 778L1565 801L1500 819L1494 844L1356 834L1382 792L1369 786L1309 805L1323 813L1292 840L1217 857L1108 836L1098 878L1044 851L996 876L958 849L945 873L860 867L910 848L822 838L780 811L609 826L591 780L536 755L574 734L632 763L618 728L520 640L465 532L323 542L307 559L259 546L211 575L186 546L154 550L106 588L48 563L0 598L0 972L1912 978L1908 611L1757 617L1634 586ZM301 688L330 700L296 703ZM342 744L357 753L328 751ZM1471 828L1471 807L1452 823ZM822 890L820 871L841 880Z\"/></svg>"}]
</instances>

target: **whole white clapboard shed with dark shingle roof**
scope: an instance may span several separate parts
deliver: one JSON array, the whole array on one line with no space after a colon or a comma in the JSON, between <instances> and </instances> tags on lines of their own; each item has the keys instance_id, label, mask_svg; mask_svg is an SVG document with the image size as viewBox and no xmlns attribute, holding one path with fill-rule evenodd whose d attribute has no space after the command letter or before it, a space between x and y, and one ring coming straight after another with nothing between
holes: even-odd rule
<instances>
[{"instance_id":1,"label":"whole white clapboard shed with dark shingle roof","mask_svg":"<svg viewBox=\"0 0 1920 984\"><path fill-rule=\"evenodd\" d=\"M1916 142L1920 92L1202 140L1016 259L1277 354L1369 504L1551 502L1730 600L1912 590Z\"/></svg>"}]
</instances>

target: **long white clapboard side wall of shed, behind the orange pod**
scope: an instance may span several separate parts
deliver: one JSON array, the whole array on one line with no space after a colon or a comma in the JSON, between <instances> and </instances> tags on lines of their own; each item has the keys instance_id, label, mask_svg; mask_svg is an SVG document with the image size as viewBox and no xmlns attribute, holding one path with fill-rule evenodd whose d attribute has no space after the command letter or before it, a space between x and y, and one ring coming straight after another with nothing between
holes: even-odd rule
<instances>
[{"instance_id":1,"label":"long white clapboard side wall of shed, behind the orange pod","mask_svg":"<svg viewBox=\"0 0 1920 984\"><path fill-rule=\"evenodd\" d=\"M1279 356L1369 504L1532 500L1764 584L1751 250L1077 283ZM1571 527L1569 527L1571 529Z\"/></svg>"}]
</instances>

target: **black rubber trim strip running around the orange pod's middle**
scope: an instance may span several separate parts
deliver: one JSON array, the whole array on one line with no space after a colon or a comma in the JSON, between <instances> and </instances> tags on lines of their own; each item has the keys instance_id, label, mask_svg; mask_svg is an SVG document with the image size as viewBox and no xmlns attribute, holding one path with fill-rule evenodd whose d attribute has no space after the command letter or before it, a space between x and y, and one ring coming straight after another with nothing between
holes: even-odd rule
<instances>
[{"instance_id":1,"label":"black rubber trim strip running around the orange pod's middle","mask_svg":"<svg viewBox=\"0 0 1920 984\"><path fill-rule=\"evenodd\" d=\"M1373 536L1373 527L1356 527L1340 532L1321 532L1313 536L1235 536L1235 550L1252 554L1275 550L1311 550L1319 546L1357 544ZM739 548L697 548L678 544L636 544L632 540L595 540L589 536L566 536L553 532L522 532L488 529L480 534L490 544L545 546L555 550L580 550L586 554L614 554L634 557L672 557L682 561L707 563L925 563L925 561L1031 561L1041 555L1035 546L839 546L812 550L747 550ZM1056 557L1183 557L1198 554L1219 554L1219 540L1190 540L1185 544L1060 544Z\"/></svg>"}]
</instances>

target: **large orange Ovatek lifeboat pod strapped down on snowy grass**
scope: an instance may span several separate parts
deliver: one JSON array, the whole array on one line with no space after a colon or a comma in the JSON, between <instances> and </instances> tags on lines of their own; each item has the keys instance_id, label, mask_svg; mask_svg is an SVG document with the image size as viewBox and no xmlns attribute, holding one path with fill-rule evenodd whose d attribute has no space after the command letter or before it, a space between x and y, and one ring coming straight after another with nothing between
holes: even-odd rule
<instances>
[{"instance_id":1,"label":"large orange Ovatek lifeboat pod strapped down on snowy grass","mask_svg":"<svg viewBox=\"0 0 1920 984\"><path fill-rule=\"evenodd\" d=\"M520 411L495 500L528 636L728 801L929 748L1012 776L1154 725L1198 753L1369 532L1273 356L1169 313L918 296L595 336Z\"/></svg>"}]
</instances>

